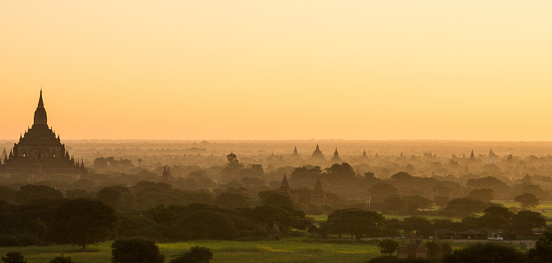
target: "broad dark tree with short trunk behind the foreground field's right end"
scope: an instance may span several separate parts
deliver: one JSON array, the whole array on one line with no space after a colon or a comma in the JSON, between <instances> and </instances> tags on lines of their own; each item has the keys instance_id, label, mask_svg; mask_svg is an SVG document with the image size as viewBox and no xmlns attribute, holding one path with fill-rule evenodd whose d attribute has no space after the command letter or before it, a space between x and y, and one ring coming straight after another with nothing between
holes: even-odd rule
<instances>
[{"instance_id":1,"label":"broad dark tree with short trunk behind the foreground field's right end","mask_svg":"<svg viewBox=\"0 0 552 263\"><path fill-rule=\"evenodd\" d=\"M374 211L346 208L332 211L322 228L327 233L351 233L359 241L368 233L381 231L377 226L384 220L382 214Z\"/></svg>"}]
</instances>

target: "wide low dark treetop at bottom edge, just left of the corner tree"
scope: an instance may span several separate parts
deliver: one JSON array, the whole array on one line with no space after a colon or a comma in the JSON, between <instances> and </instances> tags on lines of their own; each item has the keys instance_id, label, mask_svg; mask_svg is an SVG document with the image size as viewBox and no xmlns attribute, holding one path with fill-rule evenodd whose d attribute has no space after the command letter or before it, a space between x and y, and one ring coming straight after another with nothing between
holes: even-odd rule
<instances>
[{"instance_id":1,"label":"wide low dark treetop at bottom edge, just left of the corner tree","mask_svg":"<svg viewBox=\"0 0 552 263\"><path fill-rule=\"evenodd\" d=\"M525 262L524 253L517 251L514 246L497 242L477 242L465 249L454 251L446 255L444 263L517 263Z\"/></svg>"}]
</instances>

